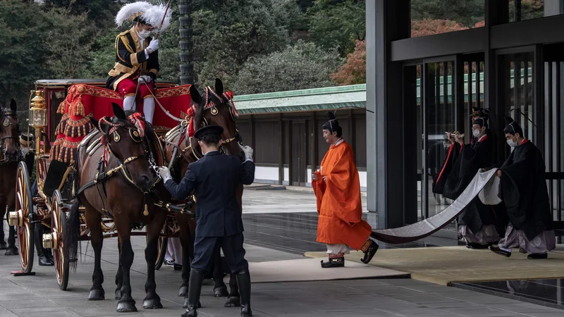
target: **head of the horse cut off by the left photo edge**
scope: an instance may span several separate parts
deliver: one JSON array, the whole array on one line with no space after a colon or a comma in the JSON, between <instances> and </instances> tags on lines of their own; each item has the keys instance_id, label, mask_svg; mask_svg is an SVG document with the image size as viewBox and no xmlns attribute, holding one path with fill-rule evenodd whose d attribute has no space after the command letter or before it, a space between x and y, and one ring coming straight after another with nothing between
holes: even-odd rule
<instances>
[{"instance_id":1,"label":"head of the horse cut off by the left photo edge","mask_svg":"<svg viewBox=\"0 0 564 317\"><path fill-rule=\"evenodd\" d=\"M0 109L0 163L22 159L20 151L20 127L16 116L16 101L12 99L10 108Z\"/></svg>"}]
</instances>

